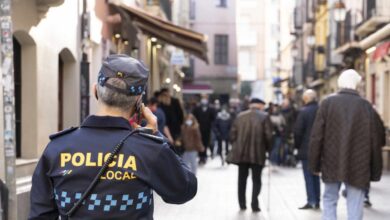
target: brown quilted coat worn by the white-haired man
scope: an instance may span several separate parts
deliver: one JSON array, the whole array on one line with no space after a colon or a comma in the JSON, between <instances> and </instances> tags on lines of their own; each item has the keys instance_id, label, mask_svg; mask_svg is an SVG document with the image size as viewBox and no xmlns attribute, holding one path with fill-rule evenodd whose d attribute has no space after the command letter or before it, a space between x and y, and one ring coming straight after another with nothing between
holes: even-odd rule
<instances>
[{"instance_id":1,"label":"brown quilted coat worn by the white-haired man","mask_svg":"<svg viewBox=\"0 0 390 220\"><path fill-rule=\"evenodd\" d=\"M309 168L324 182L367 188L382 172L382 121L357 91L343 89L325 99L309 145Z\"/></svg>"}]
</instances>

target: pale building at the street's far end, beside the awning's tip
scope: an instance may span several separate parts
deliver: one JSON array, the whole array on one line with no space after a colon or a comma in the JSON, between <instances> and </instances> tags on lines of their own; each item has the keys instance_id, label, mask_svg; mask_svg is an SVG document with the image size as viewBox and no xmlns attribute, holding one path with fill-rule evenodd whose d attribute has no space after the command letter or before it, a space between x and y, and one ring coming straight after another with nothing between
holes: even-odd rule
<instances>
[{"instance_id":1,"label":"pale building at the street's far end, beside the awning's tip","mask_svg":"<svg viewBox=\"0 0 390 220\"><path fill-rule=\"evenodd\" d=\"M237 95L236 2L190 1L191 28L208 36L209 63L191 61L194 74L188 80L190 84L208 84L215 98L225 103Z\"/></svg>"}]
</instances>

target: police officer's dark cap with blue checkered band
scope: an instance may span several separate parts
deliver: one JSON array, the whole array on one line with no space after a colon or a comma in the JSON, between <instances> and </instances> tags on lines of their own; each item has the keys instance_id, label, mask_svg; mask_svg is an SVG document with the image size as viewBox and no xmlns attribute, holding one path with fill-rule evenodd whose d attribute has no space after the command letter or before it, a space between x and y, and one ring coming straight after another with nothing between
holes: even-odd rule
<instances>
[{"instance_id":1,"label":"police officer's dark cap with blue checkered band","mask_svg":"<svg viewBox=\"0 0 390 220\"><path fill-rule=\"evenodd\" d=\"M98 76L100 86L106 86L125 95L141 95L146 89L149 70L145 65L125 54L109 55L104 61ZM126 83L126 88L117 88L107 82L110 78L117 78Z\"/></svg>"}]
</instances>

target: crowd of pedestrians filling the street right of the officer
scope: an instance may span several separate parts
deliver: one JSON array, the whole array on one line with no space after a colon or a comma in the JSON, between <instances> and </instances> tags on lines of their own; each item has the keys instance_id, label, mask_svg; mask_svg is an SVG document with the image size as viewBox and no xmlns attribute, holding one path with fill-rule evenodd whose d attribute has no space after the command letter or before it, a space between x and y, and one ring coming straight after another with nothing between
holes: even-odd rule
<instances>
[{"instance_id":1,"label":"crowd of pedestrians filling the street right of the officer","mask_svg":"<svg viewBox=\"0 0 390 220\"><path fill-rule=\"evenodd\" d=\"M163 89L156 93L156 99L166 117L161 121L166 121L168 128L161 129L173 140L175 149L182 149L178 151L194 173L198 165L216 155L222 166L225 162L238 165L242 210L246 209L246 182L251 171L251 208L260 211L261 173L269 157L273 166L296 167L300 162L307 200L299 209L320 209L321 176L325 185L323 219L336 219L342 184L350 219L361 219L363 204L371 206L369 182L380 179L385 130L375 109L357 92L359 77L354 70L343 72L338 81L340 91L321 104L314 90L304 91L300 109L290 99L267 106L252 98L245 99L237 111L202 94L199 103L183 113L185 120L178 117L183 112L178 100ZM163 117L158 114L158 118Z\"/></svg>"}]
</instances>

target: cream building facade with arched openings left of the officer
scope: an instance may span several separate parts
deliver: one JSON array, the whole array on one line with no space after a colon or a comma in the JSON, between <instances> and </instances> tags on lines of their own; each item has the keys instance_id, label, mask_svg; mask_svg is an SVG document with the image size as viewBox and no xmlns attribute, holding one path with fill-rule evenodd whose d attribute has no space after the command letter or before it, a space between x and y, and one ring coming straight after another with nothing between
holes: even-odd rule
<instances>
[{"instance_id":1,"label":"cream building facade with arched openings left of the officer","mask_svg":"<svg viewBox=\"0 0 390 220\"><path fill-rule=\"evenodd\" d=\"M82 1L12 2L17 158L12 207L24 207L15 219L27 218L31 175L48 136L80 122L82 8Z\"/></svg>"}]
</instances>

